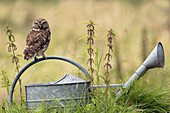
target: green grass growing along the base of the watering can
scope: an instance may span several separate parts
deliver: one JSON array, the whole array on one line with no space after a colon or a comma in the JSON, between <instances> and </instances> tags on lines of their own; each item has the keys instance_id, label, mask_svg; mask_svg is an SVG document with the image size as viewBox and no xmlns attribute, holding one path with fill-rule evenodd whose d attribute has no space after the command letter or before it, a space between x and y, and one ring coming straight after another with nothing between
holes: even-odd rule
<instances>
[{"instance_id":1,"label":"green grass growing along the base of the watering can","mask_svg":"<svg viewBox=\"0 0 170 113\"><path fill-rule=\"evenodd\" d=\"M170 90L169 84L166 79L158 82L157 79L160 75L153 75L149 73L147 76L154 76L149 79L149 82L144 82L143 77L141 80L135 83L134 87L129 91L121 95L121 98L115 96L117 89L109 88L108 103L105 100L105 89L96 89L95 97L91 96L91 100L88 104L79 106L79 104L73 102L63 108L52 109L55 104L49 107L38 107L35 110L31 110L31 113L41 112L75 112L75 113L168 113L170 111ZM169 77L167 75L166 77ZM8 106L8 101L3 101ZM108 104L108 108L106 105ZM1 107L2 109L2 107ZM11 109L6 108L6 112L28 112L26 107L21 107L16 104Z\"/></svg>"}]
</instances>

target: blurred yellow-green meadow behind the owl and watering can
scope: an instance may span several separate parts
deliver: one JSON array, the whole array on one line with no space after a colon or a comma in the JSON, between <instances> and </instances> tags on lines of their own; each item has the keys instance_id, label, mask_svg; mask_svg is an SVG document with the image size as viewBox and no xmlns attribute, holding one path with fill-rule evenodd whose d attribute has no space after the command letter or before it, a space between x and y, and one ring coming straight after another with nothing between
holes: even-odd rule
<instances>
[{"instance_id":1,"label":"blurred yellow-green meadow behind the owl and watering can","mask_svg":"<svg viewBox=\"0 0 170 113\"><path fill-rule=\"evenodd\" d=\"M89 58L87 53L87 40L79 40L79 38L87 35L87 28L86 25L82 23L89 20L93 20L97 23L95 26L97 32L95 34L98 38L94 38L93 47L95 50L98 49L98 56L102 57L99 72L101 76L104 76L105 73L103 67L106 62L104 60L104 55L107 53L108 49L106 43L107 39L101 38L106 35L108 29L112 28L117 34L116 49L118 49L118 52L115 53L113 51L112 53L112 69L110 70L109 76L110 84L124 83L142 64L144 61L142 54L143 40L146 44L146 56L149 55L158 42L162 42L165 52L165 67L163 69L157 68L149 70L140 80L140 85L138 86L143 88L146 84L149 84L146 91L162 86L164 88L163 90L167 91L166 95L168 95L168 98L166 97L165 101L163 101L167 105L170 97L168 91L170 89L169 0L138 0L138 2L135 0L42 0L41 2L31 0L0 0L0 71L7 71L6 75L8 76L10 83L12 83L17 72L15 65L12 64L11 59L8 58L11 54L7 50L8 46L4 45L8 41L8 37L4 32L4 27L5 25L8 25L12 28L13 35L16 39L16 53L22 54L25 48L26 36L31 29L32 22L40 17L45 18L48 21L52 33L51 42L46 51L46 55L70 58L82 65L86 70L89 69L89 65L87 65L87 59ZM146 38L143 39L143 37ZM121 81L117 79L118 73L115 57L117 54L119 55L121 64ZM19 61L21 70L26 64L33 61L33 59L25 61L23 57L19 57ZM79 74L80 71L76 67L65 62L51 60L38 63L29 68L21 76L23 93L25 94L24 85L54 82L67 73L84 76ZM1 79L2 76L0 75L0 80ZM96 76L94 74L95 84L96 81ZM100 78L100 84L105 84L102 77ZM1 80L0 100L8 100L6 87L1 87L2 85ZM160 93L154 92L154 90L149 92L153 94ZM129 100L126 97L128 105L132 105L132 107L129 107L128 109L136 108L136 106L133 106L135 99L142 101L143 95L140 95L140 93L142 93L142 91L138 90L137 94L139 94L139 98L133 93L129 95ZM18 94L19 86L17 84L14 99L19 99ZM148 95L149 93L145 96L149 97ZM135 99L132 97L135 97ZM102 98L103 97L101 97L101 99ZM95 102L100 103L100 99ZM144 100L142 102L144 102ZM0 101L0 106L1 103L2 102ZM121 109L121 107L118 108ZM86 112L88 112L89 109L93 109L93 107L88 106ZM122 110L122 112L125 111ZM139 110L138 112L150 111ZM165 112L167 111L165 110Z\"/></svg>"}]
</instances>

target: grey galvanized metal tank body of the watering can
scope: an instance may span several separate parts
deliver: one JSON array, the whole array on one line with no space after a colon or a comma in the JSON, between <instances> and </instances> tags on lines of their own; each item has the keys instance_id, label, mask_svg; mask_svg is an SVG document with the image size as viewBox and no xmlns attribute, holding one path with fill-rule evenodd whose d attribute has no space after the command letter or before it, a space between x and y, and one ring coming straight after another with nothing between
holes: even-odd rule
<instances>
[{"instance_id":1,"label":"grey galvanized metal tank body of the watering can","mask_svg":"<svg viewBox=\"0 0 170 113\"><path fill-rule=\"evenodd\" d=\"M86 104L89 101L90 81L84 81L74 75L67 74L59 82L26 85L26 103L28 109L40 105L61 107L68 103ZM55 101L55 100L59 100ZM42 104L43 103L43 104Z\"/></svg>"}]
</instances>

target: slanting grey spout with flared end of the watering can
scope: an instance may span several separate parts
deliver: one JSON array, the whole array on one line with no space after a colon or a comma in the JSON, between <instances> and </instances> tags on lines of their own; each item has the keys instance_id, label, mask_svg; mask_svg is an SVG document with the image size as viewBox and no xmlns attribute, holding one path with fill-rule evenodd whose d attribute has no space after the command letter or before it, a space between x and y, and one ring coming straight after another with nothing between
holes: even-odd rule
<instances>
[{"instance_id":1,"label":"slanting grey spout with flared end of the watering can","mask_svg":"<svg viewBox=\"0 0 170 113\"><path fill-rule=\"evenodd\" d=\"M148 69L152 68L163 68L165 65L165 55L164 49L159 42L157 46L153 49L150 55L146 58L143 64L136 70L136 72L130 77L130 79L123 85L123 88L129 89L132 87L135 80L138 80L142 77ZM121 91L119 90L116 94L117 96L121 95Z\"/></svg>"}]
</instances>

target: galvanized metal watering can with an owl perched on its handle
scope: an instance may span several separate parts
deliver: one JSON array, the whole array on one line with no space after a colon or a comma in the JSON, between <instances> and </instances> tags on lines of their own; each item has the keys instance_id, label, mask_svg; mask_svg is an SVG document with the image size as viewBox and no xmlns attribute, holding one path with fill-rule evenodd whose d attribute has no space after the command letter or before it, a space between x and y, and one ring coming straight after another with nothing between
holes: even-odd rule
<instances>
[{"instance_id":1,"label":"galvanized metal watering can with an owl perched on its handle","mask_svg":"<svg viewBox=\"0 0 170 113\"><path fill-rule=\"evenodd\" d=\"M62 60L71 63L74 66L78 67L87 77L90 77L88 72L80 64L71 59L59 56L47 57L47 59L40 58L38 61L33 61L26 65L15 77L11 85L9 94L10 107L12 106L12 98L15 85L19 77L23 74L23 72L33 64L50 59ZM137 71L130 77L130 79L125 84L110 84L110 87L120 88L121 86L123 86L125 90L130 90L130 87L132 87L134 81L142 77L148 69L159 67L163 68L164 64L164 49L161 42L159 42L157 46L153 49L153 51L150 53L150 55L146 58L144 63L137 69ZM94 85L93 87L94 89L105 88L106 85ZM51 101L55 100L56 98L59 99L59 103L62 103L63 105L67 105L72 101L80 105L87 104L90 97L90 88L90 81L85 81L79 77L70 74L67 74L57 82L26 85L25 89L27 108L33 109L35 106L39 106L42 101L44 101L44 103L48 106L51 104ZM116 96L121 96L122 93L123 92L119 90ZM54 107L59 106L60 104L56 104Z\"/></svg>"}]
</instances>

